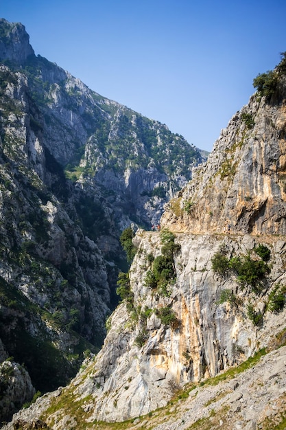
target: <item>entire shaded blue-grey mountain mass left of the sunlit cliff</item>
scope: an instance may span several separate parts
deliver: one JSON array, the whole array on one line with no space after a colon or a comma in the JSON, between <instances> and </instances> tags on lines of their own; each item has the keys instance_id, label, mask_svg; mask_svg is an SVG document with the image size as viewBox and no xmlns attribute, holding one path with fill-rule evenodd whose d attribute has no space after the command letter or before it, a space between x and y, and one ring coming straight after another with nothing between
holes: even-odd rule
<instances>
[{"instance_id":1,"label":"entire shaded blue-grey mountain mass left of the sunlit cliff","mask_svg":"<svg viewBox=\"0 0 286 430\"><path fill-rule=\"evenodd\" d=\"M5 19L0 146L1 421L99 350L128 267L123 229L158 223L202 156L36 56Z\"/></svg>"}]
</instances>

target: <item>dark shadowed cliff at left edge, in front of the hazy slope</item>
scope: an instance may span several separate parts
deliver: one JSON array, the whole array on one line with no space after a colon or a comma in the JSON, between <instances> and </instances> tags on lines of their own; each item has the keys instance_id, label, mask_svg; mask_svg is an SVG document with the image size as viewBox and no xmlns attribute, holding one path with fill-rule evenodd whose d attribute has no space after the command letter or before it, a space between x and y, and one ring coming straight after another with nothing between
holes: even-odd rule
<instances>
[{"instance_id":1,"label":"dark shadowed cliff at left edge, in front of the hazy slope","mask_svg":"<svg viewBox=\"0 0 286 430\"><path fill-rule=\"evenodd\" d=\"M0 337L45 392L67 383L84 350L101 346L112 268L76 221L87 198L80 184L65 179L31 127L25 76L0 73Z\"/></svg>"}]
</instances>

